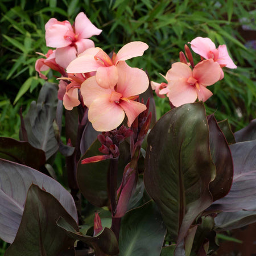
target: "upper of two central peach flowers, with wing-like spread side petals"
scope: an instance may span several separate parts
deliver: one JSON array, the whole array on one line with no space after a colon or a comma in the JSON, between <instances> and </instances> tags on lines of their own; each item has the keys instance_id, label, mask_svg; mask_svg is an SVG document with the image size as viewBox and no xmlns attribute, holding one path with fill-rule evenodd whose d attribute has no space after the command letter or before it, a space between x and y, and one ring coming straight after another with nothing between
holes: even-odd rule
<instances>
[{"instance_id":1,"label":"upper of two central peach flowers, with wing-like spread side petals","mask_svg":"<svg viewBox=\"0 0 256 256\"><path fill-rule=\"evenodd\" d=\"M67 67L68 73L96 72L96 80L102 88L113 88L118 81L117 64L119 61L142 56L148 45L131 42L123 46L112 58L101 48L90 48L73 60Z\"/></svg>"}]
</instances>

